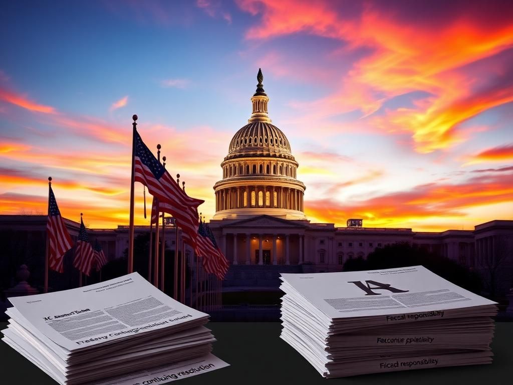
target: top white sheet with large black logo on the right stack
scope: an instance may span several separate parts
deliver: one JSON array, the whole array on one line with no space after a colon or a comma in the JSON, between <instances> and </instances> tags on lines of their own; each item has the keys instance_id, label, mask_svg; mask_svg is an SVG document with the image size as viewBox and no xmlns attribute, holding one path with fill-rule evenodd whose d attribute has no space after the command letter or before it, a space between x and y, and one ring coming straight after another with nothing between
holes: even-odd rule
<instances>
[{"instance_id":1,"label":"top white sheet with large black logo on the right stack","mask_svg":"<svg viewBox=\"0 0 513 385\"><path fill-rule=\"evenodd\" d=\"M294 300L306 299L305 306L319 309L331 319L383 315L385 323L390 324L440 319L444 317L444 310L496 304L452 284L424 266L282 274L281 279L285 292Z\"/></svg>"}]
</instances>

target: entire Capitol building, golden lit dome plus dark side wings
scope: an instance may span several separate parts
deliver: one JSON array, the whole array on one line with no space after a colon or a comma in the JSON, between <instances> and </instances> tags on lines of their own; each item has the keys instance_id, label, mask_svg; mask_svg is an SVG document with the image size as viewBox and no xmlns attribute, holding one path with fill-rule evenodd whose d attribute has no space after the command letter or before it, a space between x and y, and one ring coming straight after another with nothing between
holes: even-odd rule
<instances>
[{"instance_id":1,"label":"entire Capitol building, golden lit dome plus dark side wings","mask_svg":"<svg viewBox=\"0 0 513 385\"><path fill-rule=\"evenodd\" d=\"M485 280L500 281L493 288L498 292L505 293L513 286L512 220L440 233L362 227L361 220L348 220L348 224L356 223L348 227L310 222L304 214L306 187L297 179L299 164L285 134L271 124L261 70L257 80L248 124L230 141L221 163L223 178L213 186L215 214L209 225L230 261L223 282L227 291L277 290L281 272L341 271L348 259L366 258L377 247L397 242L418 244L476 269ZM79 224L69 220L66 224L76 237ZM44 239L45 226L46 216L0 216L0 232L27 232L29 243L30 237ZM148 226L135 227L135 235L148 231ZM100 242L109 260L124 256L128 226L89 232L91 241ZM174 250L174 226L166 229L165 239L167 247ZM44 248L38 255L44 258ZM185 255L195 269L192 250L186 247Z\"/></svg>"}]
</instances>

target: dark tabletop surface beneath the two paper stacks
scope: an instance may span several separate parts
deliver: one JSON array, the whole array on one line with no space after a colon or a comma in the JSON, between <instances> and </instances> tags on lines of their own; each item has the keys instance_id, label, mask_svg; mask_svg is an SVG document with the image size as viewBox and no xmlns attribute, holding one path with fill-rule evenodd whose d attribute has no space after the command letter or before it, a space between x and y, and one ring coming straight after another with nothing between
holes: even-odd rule
<instances>
[{"instance_id":1,"label":"dark tabletop surface beneath the two paper stacks","mask_svg":"<svg viewBox=\"0 0 513 385\"><path fill-rule=\"evenodd\" d=\"M7 324L0 322L0 329ZM437 368L369 374L326 380L285 341L281 324L268 322L210 322L215 338L213 353L231 366L180 380L194 384L408 384L495 385L513 381L513 323L498 322L491 347L494 363L469 367ZM30 361L0 343L0 384L55 385L56 382Z\"/></svg>"}]
</instances>

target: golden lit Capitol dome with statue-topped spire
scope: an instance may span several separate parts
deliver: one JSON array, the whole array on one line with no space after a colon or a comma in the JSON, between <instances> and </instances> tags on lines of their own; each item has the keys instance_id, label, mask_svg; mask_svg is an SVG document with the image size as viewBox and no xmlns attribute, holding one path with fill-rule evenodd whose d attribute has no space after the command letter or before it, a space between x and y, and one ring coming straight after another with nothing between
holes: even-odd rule
<instances>
[{"instance_id":1,"label":"golden lit Capitol dome with statue-topped spire","mask_svg":"<svg viewBox=\"0 0 513 385\"><path fill-rule=\"evenodd\" d=\"M223 179L214 185L213 219L259 215L306 219L305 185L296 179L299 164L285 134L271 124L267 113L269 98L260 69L257 80L251 117L230 141L228 155L221 163Z\"/></svg>"}]
</instances>

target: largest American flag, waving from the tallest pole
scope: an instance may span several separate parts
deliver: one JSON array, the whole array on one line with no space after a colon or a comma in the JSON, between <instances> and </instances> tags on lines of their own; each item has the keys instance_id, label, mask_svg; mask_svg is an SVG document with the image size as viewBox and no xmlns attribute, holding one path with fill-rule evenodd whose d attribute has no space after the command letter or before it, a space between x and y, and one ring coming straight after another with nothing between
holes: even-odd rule
<instances>
[{"instance_id":1,"label":"largest American flag, waving from the tallest pole","mask_svg":"<svg viewBox=\"0 0 513 385\"><path fill-rule=\"evenodd\" d=\"M135 181L148 187L150 194L159 200L159 211L174 217L177 225L187 234L189 244L195 248L198 238L196 229L199 219L198 206L204 201L185 194L185 191L144 144L139 132L135 133L134 163Z\"/></svg>"}]
</instances>

